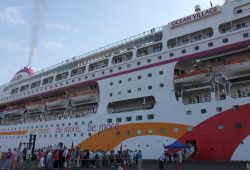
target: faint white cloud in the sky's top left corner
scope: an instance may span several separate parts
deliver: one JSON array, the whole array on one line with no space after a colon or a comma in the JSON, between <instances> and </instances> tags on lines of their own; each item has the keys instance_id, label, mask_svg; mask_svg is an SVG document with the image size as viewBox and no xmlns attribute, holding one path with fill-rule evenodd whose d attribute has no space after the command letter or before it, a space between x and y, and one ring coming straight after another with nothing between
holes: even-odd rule
<instances>
[{"instance_id":1,"label":"faint white cloud in the sky's top left corner","mask_svg":"<svg viewBox=\"0 0 250 170\"><path fill-rule=\"evenodd\" d=\"M0 11L0 23L4 25L20 25L24 24L25 18L22 14L21 8L16 6L9 6Z\"/></svg>"}]
</instances>

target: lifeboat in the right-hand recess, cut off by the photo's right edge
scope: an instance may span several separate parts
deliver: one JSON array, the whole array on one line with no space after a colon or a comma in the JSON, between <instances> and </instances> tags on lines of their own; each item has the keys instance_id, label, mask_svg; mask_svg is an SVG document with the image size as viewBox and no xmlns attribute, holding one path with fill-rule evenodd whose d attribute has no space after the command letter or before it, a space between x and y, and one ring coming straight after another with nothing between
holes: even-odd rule
<instances>
[{"instance_id":1,"label":"lifeboat in the right-hand recess, cut off by the photo's right edge","mask_svg":"<svg viewBox=\"0 0 250 170\"><path fill-rule=\"evenodd\" d=\"M225 62L221 72L225 78L232 78L250 74L250 60L230 60Z\"/></svg>"}]
</instances>

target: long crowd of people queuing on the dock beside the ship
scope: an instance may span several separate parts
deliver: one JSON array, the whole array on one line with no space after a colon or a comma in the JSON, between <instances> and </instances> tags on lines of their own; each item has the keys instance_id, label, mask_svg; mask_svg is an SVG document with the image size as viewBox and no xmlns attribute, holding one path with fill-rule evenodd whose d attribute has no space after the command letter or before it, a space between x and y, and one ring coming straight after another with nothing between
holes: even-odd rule
<instances>
[{"instance_id":1,"label":"long crowd of people queuing on the dock beside the ship","mask_svg":"<svg viewBox=\"0 0 250 170\"><path fill-rule=\"evenodd\" d=\"M39 168L80 168L80 167L115 167L115 166L135 166L142 169L141 150L119 150L119 151L91 151L81 150L79 147L67 149L62 148L39 148L31 153L30 149L11 149L2 154L4 164L2 169L23 169L23 162L26 161L32 166Z\"/></svg>"}]
</instances>

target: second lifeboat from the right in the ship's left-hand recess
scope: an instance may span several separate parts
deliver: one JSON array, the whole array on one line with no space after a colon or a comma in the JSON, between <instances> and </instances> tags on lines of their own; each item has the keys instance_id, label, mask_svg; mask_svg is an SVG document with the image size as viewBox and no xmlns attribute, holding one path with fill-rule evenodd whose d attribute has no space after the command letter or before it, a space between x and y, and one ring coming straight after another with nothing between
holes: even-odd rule
<instances>
[{"instance_id":1,"label":"second lifeboat from the right in the ship's left-hand recess","mask_svg":"<svg viewBox=\"0 0 250 170\"><path fill-rule=\"evenodd\" d=\"M47 99L45 105L47 110L66 109L69 105L69 99L66 97Z\"/></svg>"}]
</instances>

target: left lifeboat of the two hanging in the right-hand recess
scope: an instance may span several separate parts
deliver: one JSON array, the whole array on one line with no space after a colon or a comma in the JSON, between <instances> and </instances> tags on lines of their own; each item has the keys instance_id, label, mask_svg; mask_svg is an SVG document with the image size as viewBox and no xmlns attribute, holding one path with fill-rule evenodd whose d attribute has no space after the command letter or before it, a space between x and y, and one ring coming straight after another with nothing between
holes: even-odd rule
<instances>
[{"instance_id":1,"label":"left lifeboat of the two hanging in the right-hand recess","mask_svg":"<svg viewBox=\"0 0 250 170\"><path fill-rule=\"evenodd\" d=\"M208 70L194 70L188 73L178 75L174 83L176 84L196 84L206 83L213 78L212 73Z\"/></svg>"}]
</instances>

